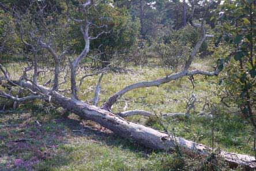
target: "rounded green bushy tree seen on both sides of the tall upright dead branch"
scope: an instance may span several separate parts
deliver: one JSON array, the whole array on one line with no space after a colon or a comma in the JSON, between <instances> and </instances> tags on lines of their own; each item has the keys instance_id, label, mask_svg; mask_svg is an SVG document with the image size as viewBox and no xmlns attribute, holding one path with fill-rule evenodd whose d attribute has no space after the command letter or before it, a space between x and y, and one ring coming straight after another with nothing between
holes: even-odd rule
<instances>
[{"instance_id":1,"label":"rounded green bushy tree seen on both sides of the tall upright dead branch","mask_svg":"<svg viewBox=\"0 0 256 171\"><path fill-rule=\"evenodd\" d=\"M98 39L91 42L92 54L98 54L102 64L106 66L115 55L127 54L137 43L138 21L133 21L125 8L113 6L109 1L101 2L96 9L91 10L89 17L93 17L92 35L96 36L103 28L103 33ZM84 41L76 25L71 25L71 47L81 51Z\"/></svg>"}]
</instances>

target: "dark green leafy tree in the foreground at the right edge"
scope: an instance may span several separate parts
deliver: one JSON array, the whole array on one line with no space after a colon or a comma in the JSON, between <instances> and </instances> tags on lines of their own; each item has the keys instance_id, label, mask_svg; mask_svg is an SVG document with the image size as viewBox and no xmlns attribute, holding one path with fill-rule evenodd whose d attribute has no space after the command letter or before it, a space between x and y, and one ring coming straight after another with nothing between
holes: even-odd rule
<instances>
[{"instance_id":1,"label":"dark green leafy tree in the foreground at the right edge","mask_svg":"<svg viewBox=\"0 0 256 171\"><path fill-rule=\"evenodd\" d=\"M227 74L223 85L228 100L238 105L244 116L256 128L256 6L255 1L225 1L221 6L220 22L223 40L229 47Z\"/></svg>"}]
</instances>

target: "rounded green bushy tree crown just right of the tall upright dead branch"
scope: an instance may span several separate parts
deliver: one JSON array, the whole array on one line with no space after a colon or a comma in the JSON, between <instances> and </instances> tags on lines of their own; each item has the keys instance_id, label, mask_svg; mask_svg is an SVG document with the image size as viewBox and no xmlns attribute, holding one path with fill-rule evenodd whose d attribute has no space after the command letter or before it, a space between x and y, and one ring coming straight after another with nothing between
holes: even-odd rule
<instances>
[{"instance_id":1,"label":"rounded green bushy tree crown just right of the tall upright dead branch","mask_svg":"<svg viewBox=\"0 0 256 171\"><path fill-rule=\"evenodd\" d=\"M137 20L131 19L124 8L118 9L108 4L101 4L97 12L103 13L104 17L108 18L106 23L108 33L92 41L92 48L99 48L100 59L107 61L103 63L105 66L113 56L127 54L137 44L139 24ZM96 21L96 24L98 23L100 20Z\"/></svg>"}]
</instances>

